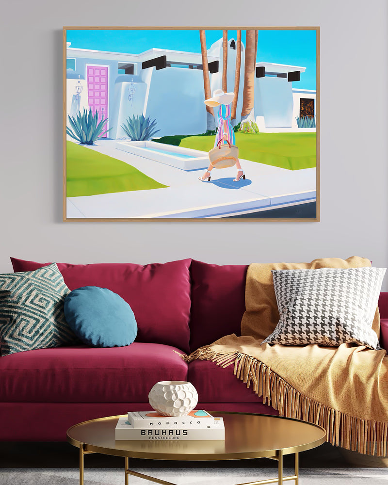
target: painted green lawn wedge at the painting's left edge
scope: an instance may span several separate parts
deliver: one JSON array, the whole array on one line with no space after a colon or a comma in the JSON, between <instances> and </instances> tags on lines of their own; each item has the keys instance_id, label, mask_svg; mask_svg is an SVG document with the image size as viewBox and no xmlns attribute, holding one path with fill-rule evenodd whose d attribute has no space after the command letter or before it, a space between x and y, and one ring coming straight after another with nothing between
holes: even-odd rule
<instances>
[{"instance_id":1,"label":"painted green lawn wedge at the painting's left edge","mask_svg":"<svg viewBox=\"0 0 388 485\"><path fill-rule=\"evenodd\" d=\"M137 168L73 142L66 142L67 197L167 187Z\"/></svg>"}]
</instances>

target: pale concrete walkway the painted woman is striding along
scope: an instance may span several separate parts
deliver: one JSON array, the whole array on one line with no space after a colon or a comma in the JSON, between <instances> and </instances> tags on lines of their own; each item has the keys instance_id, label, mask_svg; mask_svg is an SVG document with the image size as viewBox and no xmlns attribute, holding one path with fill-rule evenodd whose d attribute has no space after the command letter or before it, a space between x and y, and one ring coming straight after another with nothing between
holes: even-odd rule
<instances>
[{"instance_id":1,"label":"pale concrete walkway the painted woman is striding along","mask_svg":"<svg viewBox=\"0 0 388 485\"><path fill-rule=\"evenodd\" d=\"M167 188L67 198L67 218L197 218L274 209L316 199L316 169L286 170L240 160L246 180L233 182L236 168L213 169L210 182L186 172L126 153L115 140L97 142L92 150L129 163Z\"/></svg>"}]
</instances>

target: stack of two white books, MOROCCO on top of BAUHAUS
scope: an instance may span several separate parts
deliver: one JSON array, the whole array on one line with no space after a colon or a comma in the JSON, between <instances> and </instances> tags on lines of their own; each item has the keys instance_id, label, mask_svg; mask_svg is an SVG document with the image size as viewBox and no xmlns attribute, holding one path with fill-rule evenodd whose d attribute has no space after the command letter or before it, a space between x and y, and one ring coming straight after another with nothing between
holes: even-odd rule
<instances>
[{"instance_id":1,"label":"stack of two white books, MOROCCO on top of BAUHAUS","mask_svg":"<svg viewBox=\"0 0 388 485\"><path fill-rule=\"evenodd\" d=\"M225 439L224 420L202 409L166 417L154 411L129 412L118 419L115 439Z\"/></svg>"}]
</instances>

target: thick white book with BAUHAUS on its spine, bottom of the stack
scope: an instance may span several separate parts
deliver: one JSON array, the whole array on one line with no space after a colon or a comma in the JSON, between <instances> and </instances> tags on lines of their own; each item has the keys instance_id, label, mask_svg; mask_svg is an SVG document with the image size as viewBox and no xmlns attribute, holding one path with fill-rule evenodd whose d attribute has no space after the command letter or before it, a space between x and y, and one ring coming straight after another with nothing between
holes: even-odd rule
<instances>
[{"instance_id":1,"label":"thick white book with BAUHAUS on its spine, bottom of the stack","mask_svg":"<svg viewBox=\"0 0 388 485\"><path fill-rule=\"evenodd\" d=\"M225 439L224 420L214 418L209 420L207 426L196 428L180 427L169 428L161 425L152 425L149 428L134 428L127 416L120 417L115 428L115 439L142 439L142 440L183 440L183 439Z\"/></svg>"}]
</instances>

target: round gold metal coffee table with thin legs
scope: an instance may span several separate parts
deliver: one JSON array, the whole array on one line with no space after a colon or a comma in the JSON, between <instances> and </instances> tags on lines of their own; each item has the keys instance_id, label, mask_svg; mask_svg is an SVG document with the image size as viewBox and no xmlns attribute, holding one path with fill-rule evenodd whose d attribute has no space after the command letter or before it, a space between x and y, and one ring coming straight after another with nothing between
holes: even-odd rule
<instances>
[{"instance_id":1,"label":"round gold metal coffee table with thin legs","mask_svg":"<svg viewBox=\"0 0 388 485\"><path fill-rule=\"evenodd\" d=\"M244 485L260 485L294 480L298 485L298 453L321 445L326 431L306 421L261 414L211 413L224 418L224 440L115 440L114 428L119 416L99 418L76 424L67 430L67 441L80 449L80 485L83 485L83 457L103 453L125 457L125 485L129 475L163 485L175 485L129 470L129 458L154 460L241 460L271 458L278 462L278 476ZM295 473L283 477L283 455L295 454Z\"/></svg>"}]
</instances>

